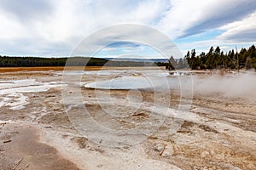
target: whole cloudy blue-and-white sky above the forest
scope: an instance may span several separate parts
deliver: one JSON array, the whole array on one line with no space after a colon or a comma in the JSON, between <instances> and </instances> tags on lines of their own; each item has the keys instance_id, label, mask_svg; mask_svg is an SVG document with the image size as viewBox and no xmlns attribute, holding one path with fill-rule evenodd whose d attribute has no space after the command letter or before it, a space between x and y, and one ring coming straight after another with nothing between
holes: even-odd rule
<instances>
[{"instance_id":1,"label":"whole cloudy blue-and-white sky above the forest","mask_svg":"<svg viewBox=\"0 0 256 170\"><path fill-rule=\"evenodd\" d=\"M218 45L227 51L256 43L255 0L0 0L0 21L0 55L69 56L86 37L119 24L160 31L183 54L192 48L200 53ZM107 34L113 33L116 42L97 56L158 56L145 44L119 42L122 30ZM136 35L152 37L142 30Z\"/></svg>"}]
</instances>

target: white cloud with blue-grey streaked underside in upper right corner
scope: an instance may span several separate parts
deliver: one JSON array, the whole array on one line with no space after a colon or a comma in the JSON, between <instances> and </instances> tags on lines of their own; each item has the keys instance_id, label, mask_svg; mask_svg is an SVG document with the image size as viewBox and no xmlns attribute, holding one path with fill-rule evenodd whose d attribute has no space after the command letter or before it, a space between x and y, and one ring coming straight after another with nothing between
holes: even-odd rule
<instances>
[{"instance_id":1,"label":"white cloud with blue-grey streaked underside in upper right corner","mask_svg":"<svg viewBox=\"0 0 256 170\"><path fill-rule=\"evenodd\" d=\"M159 27L172 38L190 36L242 20L256 10L254 0L170 1L172 8Z\"/></svg>"}]
</instances>

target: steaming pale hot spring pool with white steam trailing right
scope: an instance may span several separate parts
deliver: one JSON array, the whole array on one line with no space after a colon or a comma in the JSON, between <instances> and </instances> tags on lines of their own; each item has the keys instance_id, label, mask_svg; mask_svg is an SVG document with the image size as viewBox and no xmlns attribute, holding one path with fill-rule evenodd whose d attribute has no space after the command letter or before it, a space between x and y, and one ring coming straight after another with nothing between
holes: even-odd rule
<instances>
[{"instance_id":1,"label":"steaming pale hot spring pool with white steam trailing right","mask_svg":"<svg viewBox=\"0 0 256 170\"><path fill-rule=\"evenodd\" d=\"M186 73L187 74L187 73ZM227 98L256 101L256 75L254 73L213 75L166 74L122 77L104 82L86 84L86 88L135 89L151 87L155 91L176 90L184 96L218 94ZM144 79L147 80L144 80ZM132 84L131 84L132 82Z\"/></svg>"}]
</instances>

